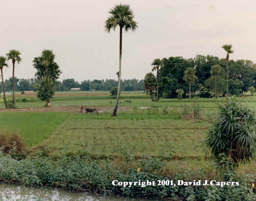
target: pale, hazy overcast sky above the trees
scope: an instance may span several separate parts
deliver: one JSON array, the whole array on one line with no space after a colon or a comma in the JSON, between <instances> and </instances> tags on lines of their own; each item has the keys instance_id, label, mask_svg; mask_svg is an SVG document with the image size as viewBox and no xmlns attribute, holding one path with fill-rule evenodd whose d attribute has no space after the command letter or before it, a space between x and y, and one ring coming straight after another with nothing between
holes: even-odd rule
<instances>
[{"instance_id":1,"label":"pale, hazy overcast sky above the trees","mask_svg":"<svg viewBox=\"0 0 256 201\"><path fill-rule=\"evenodd\" d=\"M109 11L129 4L138 29L123 33L122 79L143 79L155 58L225 57L256 62L254 0L8 0L0 1L0 56L19 50L15 76L32 78L34 57L50 49L56 55L60 80L115 79L119 69L119 30L107 33ZM4 78L12 76L12 63Z\"/></svg>"}]
</instances>

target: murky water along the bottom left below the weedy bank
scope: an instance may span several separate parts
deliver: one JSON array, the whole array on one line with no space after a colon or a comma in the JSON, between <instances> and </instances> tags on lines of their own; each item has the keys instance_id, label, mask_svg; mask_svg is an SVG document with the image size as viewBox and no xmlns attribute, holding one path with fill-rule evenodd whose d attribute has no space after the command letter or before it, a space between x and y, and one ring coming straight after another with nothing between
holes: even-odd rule
<instances>
[{"instance_id":1,"label":"murky water along the bottom left below the weedy bank","mask_svg":"<svg viewBox=\"0 0 256 201\"><path fill-rule=\"evenodd\" d=\"M71 192L56 188L29 188L0 183L0 201L141 201L118 196L99 196L87 192Z\"/></svg>"}]
</instances>

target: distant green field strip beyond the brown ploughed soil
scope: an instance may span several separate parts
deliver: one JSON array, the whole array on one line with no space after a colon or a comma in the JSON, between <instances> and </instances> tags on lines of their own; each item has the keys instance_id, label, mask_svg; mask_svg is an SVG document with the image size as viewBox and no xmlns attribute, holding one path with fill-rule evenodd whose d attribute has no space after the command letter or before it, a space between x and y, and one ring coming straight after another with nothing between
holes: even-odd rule
<instances>
[{"instance_id":1,"label":"distant green field strip beyond the brown ploughed soil","mask_svg":"<svg viewBox=\"0 0 256 201\"><path fill-rule=\"evenodd\" d=\"M0 108L4 108L3 95L0 95ZM7 98L11 98L8 95ZM33 102L26 103L16 103L17 108L35 108L43 107L44 102L40 101L35 94L21 95L17 94L16 98L22 99L33 99ZM225 97L220 97L220 100L224 101ZM248 103L252 107L256 107L255 96L247 96L245 98L238 97L239 101L243 104ZM130 103L131 101L131 103ZM180 107L181 104L192 105L193 102L200 103L200 107L204 109L214 110L216 109L216 99L215 98L183 98L182 101L172 98L160 98L159 102L151 102L149 96L140 91L128 92L125 91L120 95L119 106L129 106L129 107ZM56 92L56 95L51 100L51 105L54 107L60 106L94 106L94 107L114 107L115 98L109 95L108 91L80 91L80 92Z\"/></svg>"}]
</instances>

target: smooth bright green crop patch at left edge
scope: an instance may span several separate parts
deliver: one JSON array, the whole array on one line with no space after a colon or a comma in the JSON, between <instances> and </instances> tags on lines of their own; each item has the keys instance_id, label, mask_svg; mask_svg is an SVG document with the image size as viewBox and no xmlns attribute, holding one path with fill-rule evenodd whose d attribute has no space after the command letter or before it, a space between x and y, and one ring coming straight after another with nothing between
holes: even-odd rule
<instances>
[{"instance_id":1,"label":"smooth bright green crop patch at left edge","mask_svg":"<svg viewBox=\"0 0 256 201\"><path fill-rule=\"evenodd\" d=\"M0 113L1 129L18 132L28 146L47 139L68 113Z\"/></svg>"}]
</instances>

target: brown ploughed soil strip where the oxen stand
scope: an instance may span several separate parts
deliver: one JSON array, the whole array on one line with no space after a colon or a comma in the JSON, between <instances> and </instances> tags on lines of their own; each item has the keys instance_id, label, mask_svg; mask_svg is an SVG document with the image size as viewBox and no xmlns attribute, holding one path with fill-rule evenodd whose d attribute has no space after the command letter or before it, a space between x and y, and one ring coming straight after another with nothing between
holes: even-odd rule
<instances>
[{"instance_id":1,"label":"brown ploughed soil strip where the oxen stand","mask_svg":"<svg viewBox=\"0 0 256 201\"><path fill-rule=\"evenodd\" d=\"M99 113L111 113L114 107L95 107L86 106L88 108L95 108ZM118 107L118 111L124 111L132 109L133 107ZM78 114L80 112L81 106L62 106L62 107L50 107L50 108L22 108L22 109L0 109L0 112L70 112L73 114ZM83 111L85 113L85 111Z\"/></svg>"}]
</instances>

